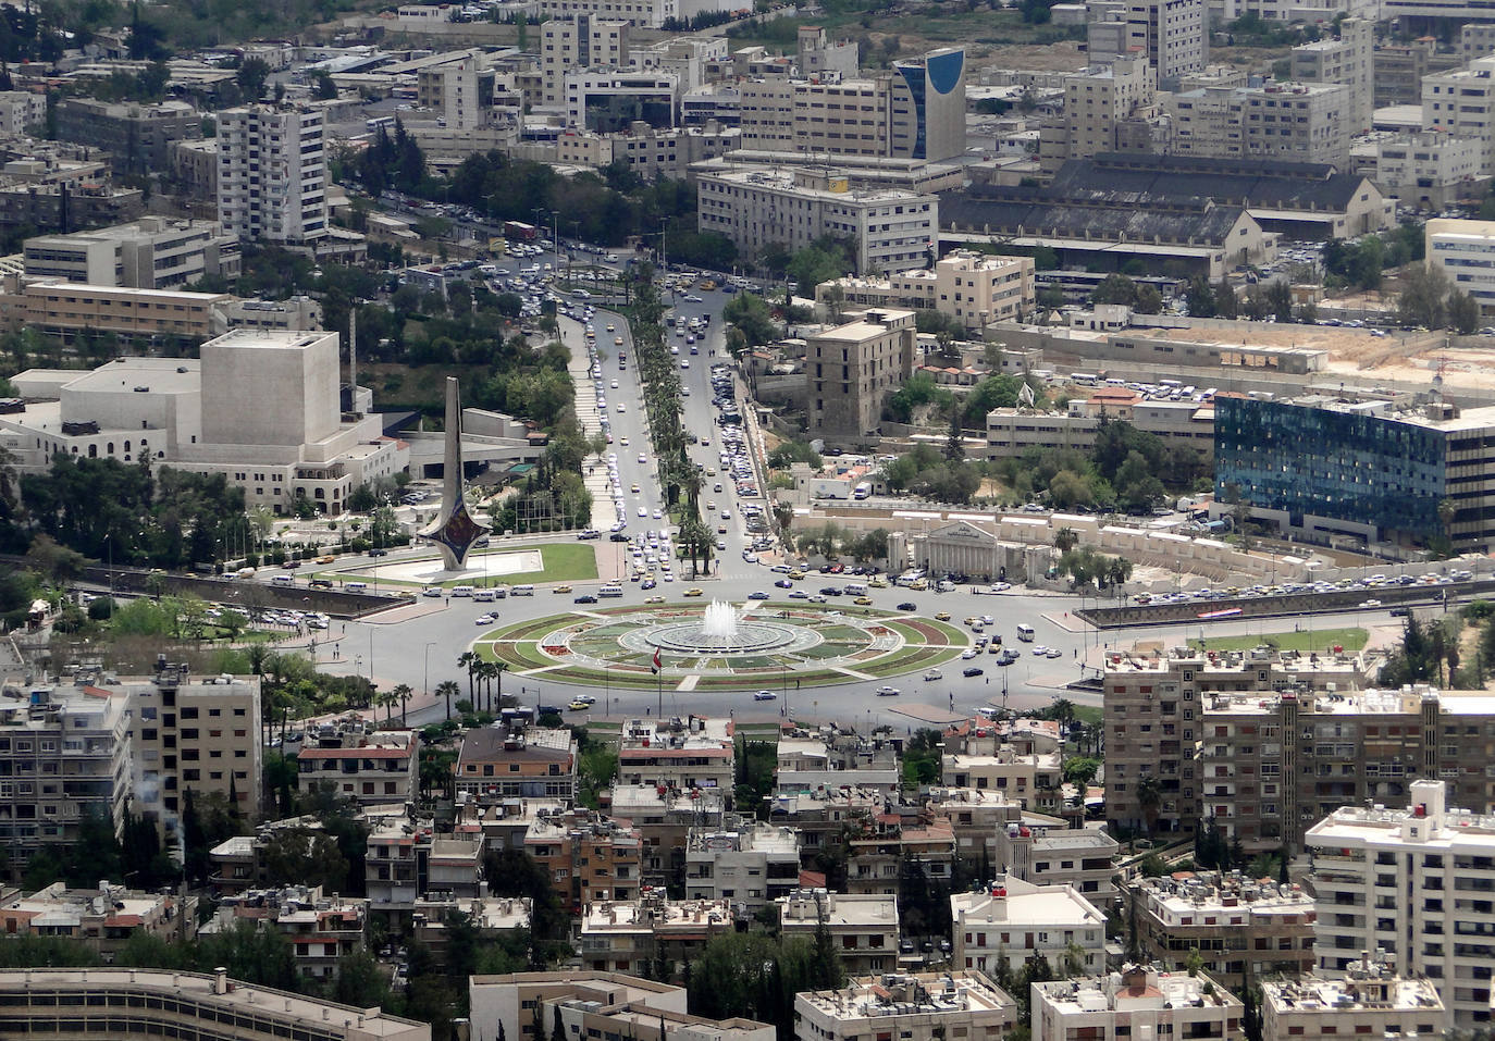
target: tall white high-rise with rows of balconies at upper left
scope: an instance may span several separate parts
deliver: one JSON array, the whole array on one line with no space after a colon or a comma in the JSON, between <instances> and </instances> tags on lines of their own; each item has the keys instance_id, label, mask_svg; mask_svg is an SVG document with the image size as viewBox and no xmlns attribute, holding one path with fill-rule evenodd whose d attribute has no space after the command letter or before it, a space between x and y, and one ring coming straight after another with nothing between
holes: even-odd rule
<instances>
[{"instance_id":1,"label":"tall white high-rise with rows of balconies at upper left","mask_svg":"<svg viewBox=\"0 0 1495 1041\"><path fill-rule=\"evenodd\" d=\"M248 105L218 114L218 223L241 239L309 246L327 236L326 114Z\"/></svg>"}]
</instances>

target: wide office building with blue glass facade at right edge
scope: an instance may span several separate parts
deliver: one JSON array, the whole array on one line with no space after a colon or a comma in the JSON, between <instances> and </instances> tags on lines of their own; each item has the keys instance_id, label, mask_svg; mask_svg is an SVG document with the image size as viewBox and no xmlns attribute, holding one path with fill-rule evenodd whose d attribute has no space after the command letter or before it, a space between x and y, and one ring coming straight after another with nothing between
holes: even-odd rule
<instances>
[{"instance_id":1,"label":"wide office building with blue glass facade at right edge","mask_svg":"<svg viewBox=\"0 0 1495 1041\"><path fill-rule=\"evenodd\" d=\"M1428 229L1429 263L1473 290L1459 267L1479 243L1437 224ZM1310 542L1447 538L1458 553L1485 551L1495 544L1495 491L1482 490L1492 427L1495 408L1461 411L1437 400L1399 411L1384 400L1326 396L1217 399L1215 491L1221 502L1239 494L1253 517ZM1438 515L1444 500L1455 505L1447 530Z\"/></svg>"}]
</instances>

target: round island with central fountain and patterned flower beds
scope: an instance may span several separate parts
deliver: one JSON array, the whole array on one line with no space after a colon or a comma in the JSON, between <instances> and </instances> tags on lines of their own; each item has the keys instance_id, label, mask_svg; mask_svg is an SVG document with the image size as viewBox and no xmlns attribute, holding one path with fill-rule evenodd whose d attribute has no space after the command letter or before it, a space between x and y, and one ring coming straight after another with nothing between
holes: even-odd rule
<instances>
[{"instance_id":1,"label":"round island with central fountain and patterned flower beds","mask_svg":"<svg viewBox=\"0 0 1495 1041\"><path fill-rule=\"evenodd\" d=\"M516 678L727 692L887 680L943 665L967 642L912 614L749 600L577 608L492 629L474 650Z\"/></svg>"}]
</instances>

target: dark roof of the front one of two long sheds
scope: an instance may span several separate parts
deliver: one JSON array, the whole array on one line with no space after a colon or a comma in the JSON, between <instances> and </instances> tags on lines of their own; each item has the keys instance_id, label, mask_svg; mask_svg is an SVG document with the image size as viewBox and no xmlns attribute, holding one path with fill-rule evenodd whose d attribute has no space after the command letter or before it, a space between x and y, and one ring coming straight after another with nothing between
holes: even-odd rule
<instances>
[{"instance_id":1,"label":"dark roof of the front one of two long sheds","mask_svg":"<svg viewBox=\"0 0 1495 1041\"><path fill-rule=\"evenodd\" d=\"M1239 206L1217 206L1208 200L1169 200L1144 205L1129 199L1054 197L1051 190L1011 190L972 185L939 197L940 226L948 230L978 230L997 234L1049 234L1054 237L1129 242L1183 242L1218 246L1245 212Z\"/></svg>"}]
</instances>

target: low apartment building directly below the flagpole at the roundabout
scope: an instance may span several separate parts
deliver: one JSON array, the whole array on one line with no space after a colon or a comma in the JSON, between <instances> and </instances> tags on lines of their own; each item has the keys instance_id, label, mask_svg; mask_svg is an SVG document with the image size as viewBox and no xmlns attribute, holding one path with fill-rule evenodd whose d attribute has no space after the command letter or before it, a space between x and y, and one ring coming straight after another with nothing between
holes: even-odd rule
<instances>
[{"instance_id":1,"label":"low apartment building directly below the flagpole at the roundabout","mask_svg":"<svg viewBox=\"0 0 1495 1041\"><path fill-rule=\"evenodd\" d=\"M730 718L634 718L620 732L617 783L662 786L673 792L710 789L730 793L734 763Z\"/></svg>"}]
</instances>

